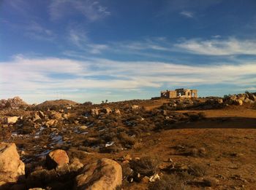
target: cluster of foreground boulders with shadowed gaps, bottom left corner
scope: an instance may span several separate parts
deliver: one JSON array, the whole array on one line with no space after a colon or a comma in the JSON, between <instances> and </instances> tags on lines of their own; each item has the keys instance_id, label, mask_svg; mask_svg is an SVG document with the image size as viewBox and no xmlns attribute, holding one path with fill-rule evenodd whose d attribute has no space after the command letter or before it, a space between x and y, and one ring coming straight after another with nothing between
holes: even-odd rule
<instances>
[{"instance_id":1,"label":"cluster of foreground boulders with shadowed gaps, bottom left corner","mask_svg":"<svg viewBox=\"0 0 256 190\"><path fill-rule=\"evenodd\" d=\"M111 159L99 159L86 166L58 149L47 155L45 167L36 167L25 178L15 143L0 143L0 189L116 189L122 183L121 165ZM22 178L22 181L20 181ZM74 184L74 186L72 186Z\"/></svg>"}]
</instances>

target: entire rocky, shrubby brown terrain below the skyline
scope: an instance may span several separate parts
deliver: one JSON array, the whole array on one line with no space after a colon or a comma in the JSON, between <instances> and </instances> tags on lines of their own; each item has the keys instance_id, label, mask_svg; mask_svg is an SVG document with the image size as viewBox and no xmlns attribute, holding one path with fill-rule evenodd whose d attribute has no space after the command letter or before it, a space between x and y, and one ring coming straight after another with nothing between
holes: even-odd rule
<instances>
[{"instance_id":1,"label":"entire rocky, shrubby brown terrain below the skyline","mask_svg":"<svg viewBox=\"0 0 256 190\"><path fill-rule=\"evenodd\" d=\"M0 100L0 189L255 189L256 94Z\"/></svg>"}]
</instances>

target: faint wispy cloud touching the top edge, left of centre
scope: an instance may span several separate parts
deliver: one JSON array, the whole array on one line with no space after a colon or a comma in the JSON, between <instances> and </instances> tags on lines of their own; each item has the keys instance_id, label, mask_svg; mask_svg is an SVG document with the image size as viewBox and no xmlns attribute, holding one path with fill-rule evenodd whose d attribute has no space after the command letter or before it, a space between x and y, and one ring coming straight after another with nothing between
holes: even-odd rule
<instances>
[{"instance_id":1,"label":"faint wispy cloud touching the top edge, left of centre","mask_svg":"<svg viewBox=\"0 0 256 190\"><path fill-rule=\"evenodd\" d=\"M108 7L92 0L56 0L50 4L49 13L52 20L79 13L91 22L111 15Z\"/></svg>"}]
</instances>

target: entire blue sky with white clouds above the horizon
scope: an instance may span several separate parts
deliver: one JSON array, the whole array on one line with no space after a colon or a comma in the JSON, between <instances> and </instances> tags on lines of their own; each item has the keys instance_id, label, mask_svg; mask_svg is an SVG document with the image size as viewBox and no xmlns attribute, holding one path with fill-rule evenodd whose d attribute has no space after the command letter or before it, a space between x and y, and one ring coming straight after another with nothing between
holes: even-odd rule
<instances>
[{"instance_id":1,"label":"entire blue sky with white clouds above the horizon","mask_svg":"<svg viewBox=\"0 0 256 190\"><path fill-rule=\"evenodd\" d=\"M256 92L255 0L0 0L0 99Z\"/></svg>"}]
</instances>

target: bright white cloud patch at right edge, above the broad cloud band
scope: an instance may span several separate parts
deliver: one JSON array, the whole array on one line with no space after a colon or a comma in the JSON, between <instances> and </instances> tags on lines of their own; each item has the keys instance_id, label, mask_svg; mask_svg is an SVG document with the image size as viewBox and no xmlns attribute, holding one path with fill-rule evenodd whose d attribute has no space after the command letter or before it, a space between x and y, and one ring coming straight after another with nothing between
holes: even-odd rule
<instances>
[{"instance_id":1,"label":"bright white cloud patch at right edge, above the broad cloud band","mask_svg":"<svg viewBox=\"0 0 256 190\"><path fill-rule=\"evenodd\" d=\"M256 55L256 40L230 39L189 39L175 44L178 51L198 55Z\"/></svg>"}]
</instances>

